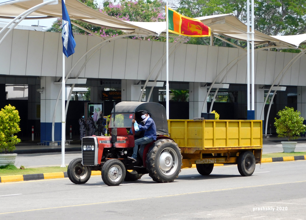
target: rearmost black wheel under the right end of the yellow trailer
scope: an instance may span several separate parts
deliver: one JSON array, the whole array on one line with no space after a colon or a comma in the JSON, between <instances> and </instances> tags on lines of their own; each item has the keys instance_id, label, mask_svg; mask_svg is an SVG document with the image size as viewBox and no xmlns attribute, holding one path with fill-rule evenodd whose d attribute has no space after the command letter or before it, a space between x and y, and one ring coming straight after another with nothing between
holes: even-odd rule
<instances>
[{"instance_id":1,"label":"rearmost black wheel under the right end of the yellow trailer","mask_svg":"<svg viewBox=\"0 0 306 220\"><path fill-rule=\"evenodd\" d=\"M239 153L237 167L241 176L251 176L255 171L255 166L255 156L251 151L243 151Z\"/></svg>"}]
</instances>

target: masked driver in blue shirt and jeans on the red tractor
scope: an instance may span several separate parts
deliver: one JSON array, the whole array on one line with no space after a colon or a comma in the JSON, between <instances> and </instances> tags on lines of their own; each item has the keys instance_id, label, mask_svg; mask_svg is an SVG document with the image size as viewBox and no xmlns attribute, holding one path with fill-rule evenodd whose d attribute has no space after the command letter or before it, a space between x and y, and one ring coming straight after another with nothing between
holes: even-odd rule
<instances>
[{"instance_id":1,"label":"masked driver in blue shirt and jeans on the red tractor","mask_svg":"<svg viewBox=\"0 0 306 220\"><path fill-rule=\"evenodd\" d=\"M133 155L128 157L129 159L134 160L134 162L137 158L138 145L140 145L141 148L152 141L156 141L156 126L153 119L150 117L147 111L141 112L141 118L143 119L141 122L144 123L144 125L138 124L135 119L132 120L133 124L138 124L139 130L144 131L144 137L135 140Z\"/></svg>"}]
</instances>

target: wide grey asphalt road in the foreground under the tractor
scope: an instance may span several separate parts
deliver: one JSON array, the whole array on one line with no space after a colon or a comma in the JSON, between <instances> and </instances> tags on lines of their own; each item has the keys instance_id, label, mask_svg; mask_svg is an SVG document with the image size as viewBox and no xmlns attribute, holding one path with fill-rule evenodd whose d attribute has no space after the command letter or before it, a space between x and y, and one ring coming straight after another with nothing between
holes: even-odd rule
<instances>
[{"instance_id":1,"label":"wide grey asphalt road in the foreground under the tractor","mask_svg":"<svg viewBox=\"0 0 306 220\"><path fill-rule=\"evenodd\" d=\"M305 187L305 160L258 164L251 177L235 165L209 176L183 169L172 183L147 174L112 187L100 176L84 185L68 178L1 183L0 219L305 219Z\"/></svg>"}]
</instances>

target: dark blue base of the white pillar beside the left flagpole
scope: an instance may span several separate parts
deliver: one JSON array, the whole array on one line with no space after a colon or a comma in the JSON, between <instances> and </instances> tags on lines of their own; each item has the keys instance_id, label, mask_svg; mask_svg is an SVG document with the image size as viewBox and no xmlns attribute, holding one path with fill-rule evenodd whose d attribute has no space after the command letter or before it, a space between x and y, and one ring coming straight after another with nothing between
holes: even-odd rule
<instances>
[{"instance_id":1,"label":"dark blue base of the white pillar beside the left flagpole","mask_svg":"<svg viewBox=\"0 0 306 220\"><path fill-rule=\"evenodd\" d=\"M40 142L52 141L52 123L40 123ZM62 141L62 123L54 123L54 141Z\"/></svg>"}]
</instances>

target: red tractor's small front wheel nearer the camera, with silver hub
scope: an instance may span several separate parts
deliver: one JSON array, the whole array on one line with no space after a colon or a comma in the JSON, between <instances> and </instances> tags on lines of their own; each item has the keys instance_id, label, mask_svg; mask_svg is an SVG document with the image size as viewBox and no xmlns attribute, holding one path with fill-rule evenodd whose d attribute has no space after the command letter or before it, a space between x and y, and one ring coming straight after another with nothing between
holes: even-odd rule
<instances>
[{"instance_id":1,"label":"red tractor's small front wheel nearer the camera, with silver hub","mask_svg":"<svg viewBox=\"0 0 306 220\"><path fill-rule=\"evenodd\" d=\"M119 160L108 160L102 167L101 175L102 180L106 185L120 185L125 178L125 166Z\"/></svg>"}]
</instances>

